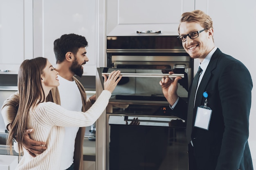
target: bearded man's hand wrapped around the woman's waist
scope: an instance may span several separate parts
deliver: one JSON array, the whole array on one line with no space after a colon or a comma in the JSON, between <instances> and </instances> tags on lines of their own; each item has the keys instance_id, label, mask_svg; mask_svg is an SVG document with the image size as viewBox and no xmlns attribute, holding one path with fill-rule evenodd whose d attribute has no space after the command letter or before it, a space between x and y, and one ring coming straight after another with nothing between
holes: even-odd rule
<instances>
[{"instance_id":1,"label":"bearded man's hand wrapped around the woman's waist","mask_svg":"<svg viewBox=\"0 0 256 170\"><path fill-rule=\"evenodd\" d=\"M33 132L33 129L27 129L23 138L23 147L27 150L29 155L36 157L35 154L41 154L47 148L45 142L34 141L30 138L29 134Z\"/></svg>"}]
</instances>

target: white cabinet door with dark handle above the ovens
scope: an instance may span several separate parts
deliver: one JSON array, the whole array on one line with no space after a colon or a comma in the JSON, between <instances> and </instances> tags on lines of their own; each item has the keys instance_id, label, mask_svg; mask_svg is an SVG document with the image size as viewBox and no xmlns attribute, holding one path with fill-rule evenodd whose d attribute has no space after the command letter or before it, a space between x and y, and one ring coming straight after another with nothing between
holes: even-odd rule
<instances>
[{"instance_id":1,"label":"white cabinet door with dark handle above the ovens","mask_svg":"<svg viewBox=\"0 0 256 170\"><path fill-rule=\"evenodd\" d=\"M137 31L177 35L181 14L194 7L194 0L108 0L107 35L139 35Z\"/></svg>"}]
</instances>

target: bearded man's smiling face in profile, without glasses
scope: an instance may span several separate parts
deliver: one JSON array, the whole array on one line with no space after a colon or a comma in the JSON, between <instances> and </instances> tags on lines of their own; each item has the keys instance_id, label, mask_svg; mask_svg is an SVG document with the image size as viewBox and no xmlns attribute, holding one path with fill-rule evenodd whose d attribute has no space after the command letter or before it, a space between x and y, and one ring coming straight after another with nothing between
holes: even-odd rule
<instances>
[{"instance_id":1,"label":"bearded man's smiling face in profile, without glasses","mask_svg":"<svg viewBox=\"0 0 256 170\"><path fill-rule=\"evenodd\" d=\"M77 76L83 75L83 65L89 61L88 57L86 56L86 49L85 48L79 48L78 52L74 56L75 59L72 62L72 65L70 67L70 70L76 74Z\"/></svg>"}]
</instances>

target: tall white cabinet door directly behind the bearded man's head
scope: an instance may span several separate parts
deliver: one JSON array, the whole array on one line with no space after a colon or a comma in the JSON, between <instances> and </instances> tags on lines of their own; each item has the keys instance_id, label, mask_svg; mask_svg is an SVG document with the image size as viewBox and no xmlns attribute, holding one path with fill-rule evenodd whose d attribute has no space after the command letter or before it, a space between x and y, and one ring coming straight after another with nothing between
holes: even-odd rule
<instances>
[{"instance_id":1,"label":"tall white cabinet door directly behind the bearded man's head","mask_svg":"<svg viewBox=\"0 0 256 170\"><path fill-rule=\"evenodd\" d=\"M89 61L84 74L95 76L97 70L97 1L34 0L34 56L46 57L56 64L54 40L63 34L75 33L88 41Z\"/></svg>"}]
</instances>

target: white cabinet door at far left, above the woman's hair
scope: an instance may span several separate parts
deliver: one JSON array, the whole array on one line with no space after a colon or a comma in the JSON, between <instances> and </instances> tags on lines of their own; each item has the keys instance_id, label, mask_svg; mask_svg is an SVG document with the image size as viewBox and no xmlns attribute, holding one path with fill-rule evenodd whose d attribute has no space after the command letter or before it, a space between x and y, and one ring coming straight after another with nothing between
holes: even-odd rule
<instances>
[{"instance_id":1,"label":"white cabinet door at far left, above the woman's hair","mask_svg":"<svg viewBox=\"0 0 256 170\"><path fill-rule=\"evenodd\" d=\"M0 74L17 74L31 58L33 0L0 0Z\"/></svg>"}]
</instances>

